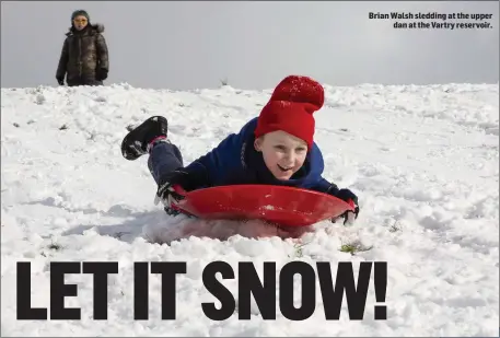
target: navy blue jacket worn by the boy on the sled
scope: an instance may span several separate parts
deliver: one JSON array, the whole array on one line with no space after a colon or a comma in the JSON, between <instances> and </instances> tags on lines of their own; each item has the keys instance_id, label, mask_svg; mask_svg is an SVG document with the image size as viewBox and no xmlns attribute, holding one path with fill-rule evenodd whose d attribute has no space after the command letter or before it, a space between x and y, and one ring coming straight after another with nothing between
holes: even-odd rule
<instances>
[{"instance_id":1,"label":"navy blue jacket worn by the boy on the sled","mask_svg":"<svg viewBox=\"0 0 500 338\"><path fill-rule=\"evenodd\" d=\"M304 165L288 180L277 179L267 168L261 152L254 148L257 118L248 121L239 133L231 133L217 148L190 163L183 171L189 173L196 188L269 184L328 193L338 191L335 184L322 177L323 154L316 143L307 152Z\"/></svg>"}]
</instances>

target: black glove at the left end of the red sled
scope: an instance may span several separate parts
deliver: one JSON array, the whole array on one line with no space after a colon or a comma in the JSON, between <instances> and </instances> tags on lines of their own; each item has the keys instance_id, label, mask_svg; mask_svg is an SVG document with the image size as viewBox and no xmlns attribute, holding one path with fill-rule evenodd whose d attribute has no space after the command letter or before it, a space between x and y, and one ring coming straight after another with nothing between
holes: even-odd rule
<instances>
[{"instance_id":1,"label":"black glove at the left end of the red sled","mask_svg":"<svg viewBox=\"0 0 500 338\"><path fill-rule=\"evenodd\" d=\"M184 196L174 190L175 185L181 186L184 190L190 190L189 174L178 168L160 177L154 203L158 205L162 200L165 207L170 207L173 202L182 200Z\"/></svg>"}]
</instances>

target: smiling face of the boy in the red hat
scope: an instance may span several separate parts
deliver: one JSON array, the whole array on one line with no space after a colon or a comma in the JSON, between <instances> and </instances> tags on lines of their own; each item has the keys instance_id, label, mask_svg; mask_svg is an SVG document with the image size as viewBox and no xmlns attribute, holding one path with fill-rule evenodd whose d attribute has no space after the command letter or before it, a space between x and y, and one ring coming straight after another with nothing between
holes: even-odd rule
<instances>
[{"instance_id":1,"label":"smiling face of the boy in the red hat","mask_svg":"<svg viewBox=\"0 0 500 338\"><path fill-rule=\"evenodd\" d=\"M307 155L307 143L282 130L256 139L254 147L263 152L267 168L281 180L290 179L304 164Z\"/></svg>"}]
</instances>

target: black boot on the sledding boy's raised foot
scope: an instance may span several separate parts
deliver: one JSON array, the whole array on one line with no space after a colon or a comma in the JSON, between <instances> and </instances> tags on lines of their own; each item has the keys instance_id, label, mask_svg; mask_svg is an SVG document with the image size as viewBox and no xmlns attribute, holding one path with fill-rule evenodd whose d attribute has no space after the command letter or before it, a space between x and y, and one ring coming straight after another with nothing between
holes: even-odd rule
<instances>
[{"instance_id":1,"label":"black boot on the sledding boy's raised foot","mask_svg":"<svg viewBox=\"0 0 500 338\"><path fill-rule=\"evenodd\" d=\"M163 116L153 116L131 130L121 141L121 154L133 161L148 153L148 144L155 138L166 139L168 123Z\"/></svg>"}]
</instances>

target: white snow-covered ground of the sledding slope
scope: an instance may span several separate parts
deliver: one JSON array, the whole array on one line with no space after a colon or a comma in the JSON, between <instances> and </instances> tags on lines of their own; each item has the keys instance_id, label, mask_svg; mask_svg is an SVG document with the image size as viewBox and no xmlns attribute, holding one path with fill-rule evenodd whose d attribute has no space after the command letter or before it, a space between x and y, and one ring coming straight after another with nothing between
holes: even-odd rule
<instances>
[{"instance_id":1,"label":"white snow-covered ground of the sledding slope","mask_svg":"<svg viewBox=\"0 0 500 338\"><path fill-rule=\"evenodd\" d=\"M259 222L167 217L153 205L146 156L120 153L126 127L160 114L189 163L256 116L270 91L2 89L2 336L498 336L499 85L325 89L315 115L324 176L356 191L361 213L352 228L323 222L289 237ZM81 307L82 320L16 320L20 260L32 263L32 306L47 308L50 261L119 261L108 320L92 319L90 275L66 277L79 285L66 306ZM150 275L150 319L133 320L133 263L160 260L187 263L177 318L161 320L161 279ZM363 320L349 320L346 303L340 320L325 320L317 288L304 322L279 306L276 320L263 320L255 304L252 320L213 322L200 305L218 304L201 281L213 260L235 271L245 260L257 270L352 261L356 272L360 261L385 260L388 318L373 319L371 283ZM236 281L223 283L237 296Z\"/></svg>"}]
</instances>

